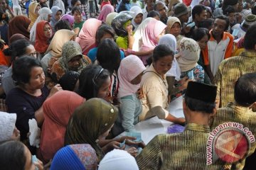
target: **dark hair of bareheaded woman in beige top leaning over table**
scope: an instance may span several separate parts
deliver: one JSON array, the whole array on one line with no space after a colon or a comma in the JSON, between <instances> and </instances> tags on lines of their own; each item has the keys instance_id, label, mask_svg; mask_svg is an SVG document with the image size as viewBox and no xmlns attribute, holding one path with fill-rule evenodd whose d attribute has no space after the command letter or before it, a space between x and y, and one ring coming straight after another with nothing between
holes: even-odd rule
<instances>
[{"instance_id":1,"label":"dark hair of bareheaded woman in beige top leaning over table","mask_svg":"<svg viewBox=\"0 0 256 170\"><path fill-rule=\"evenodd\" d=\"M174 52L167 45L156 45L153 51L153 62L157 62L162 57L171 55L174 57Z\"/></svg>"}]
</instances>

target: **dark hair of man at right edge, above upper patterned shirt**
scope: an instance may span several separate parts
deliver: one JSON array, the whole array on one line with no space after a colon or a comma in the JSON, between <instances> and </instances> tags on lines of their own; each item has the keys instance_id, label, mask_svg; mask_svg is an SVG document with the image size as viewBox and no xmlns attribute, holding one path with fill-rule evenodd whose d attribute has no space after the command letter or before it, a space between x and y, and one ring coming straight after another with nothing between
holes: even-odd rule
<instances>
[{"instance_id":1,"label":"dark hair of man at right edge, above upper patterned shirt","mask_svg":"<svg viewBox=\"0 0 256 170\"><path fill-rule=\"evenodd\" d=\"M255 50L256 45L256 24L250 26L250 28L245 33L245 49Z\"/></svg>"}]
</instances>

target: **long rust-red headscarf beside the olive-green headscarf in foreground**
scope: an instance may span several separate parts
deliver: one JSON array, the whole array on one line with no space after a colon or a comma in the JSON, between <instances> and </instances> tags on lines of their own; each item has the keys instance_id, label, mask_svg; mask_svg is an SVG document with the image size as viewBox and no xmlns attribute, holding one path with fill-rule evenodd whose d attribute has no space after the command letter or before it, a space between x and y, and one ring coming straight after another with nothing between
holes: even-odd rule
<instances>
[{"instance_id":1,"label":"long rust-red headscarf beside the olive-green headscarf in foreground","mask_svg":"<svg viewBox=\"0 0 256 170\"><path fill-rule=\"evenodd\" d=\"M73 91L59 91L43 103L44 122L41 132L40 150L43 159L52 159L64 146L65 130L75 108L84 98Z\"/></svg>"}]
</instances>

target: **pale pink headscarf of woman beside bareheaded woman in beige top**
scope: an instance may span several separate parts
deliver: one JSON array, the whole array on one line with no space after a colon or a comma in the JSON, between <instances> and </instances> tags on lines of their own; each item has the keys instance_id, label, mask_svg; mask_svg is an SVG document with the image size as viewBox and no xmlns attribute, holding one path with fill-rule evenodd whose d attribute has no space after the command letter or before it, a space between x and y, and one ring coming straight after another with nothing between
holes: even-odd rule
<instances>
[{"instance_id":1,"label":"pale pink headscarf of woman beside bareheaded woman in beige top","mask_svg":"<svg viewBox=\"0 0 256 170\"><path fill-rule=\"evenodd\" d=\"M119 98L136 93L139 89L139 84L131 84L131 81L145 69L146 67L142 60L136 55L129 55L121 61L117 73L119 78Z\"/></svg>"}]
</instances>

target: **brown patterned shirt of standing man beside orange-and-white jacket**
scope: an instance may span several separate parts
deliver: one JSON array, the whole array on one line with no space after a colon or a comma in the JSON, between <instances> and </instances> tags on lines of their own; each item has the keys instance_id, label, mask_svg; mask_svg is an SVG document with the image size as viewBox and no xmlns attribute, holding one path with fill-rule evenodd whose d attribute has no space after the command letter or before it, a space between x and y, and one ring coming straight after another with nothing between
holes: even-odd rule
<instances>
[{"instance_id":1,"label":"brown patterned shirt of standing man beside orange-and-white jacket","mask_svg":"<svg viewBox=\"0 0 256 170\"><path fill-rule=\"evenodd\" d=\"M220 107L234 101L234 85L242 74L256 72L256 52L242 52L220 63L214 84L218 86L217 98Z\"/></svg>"}]
</instances>

